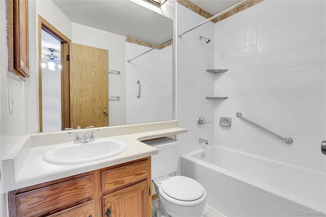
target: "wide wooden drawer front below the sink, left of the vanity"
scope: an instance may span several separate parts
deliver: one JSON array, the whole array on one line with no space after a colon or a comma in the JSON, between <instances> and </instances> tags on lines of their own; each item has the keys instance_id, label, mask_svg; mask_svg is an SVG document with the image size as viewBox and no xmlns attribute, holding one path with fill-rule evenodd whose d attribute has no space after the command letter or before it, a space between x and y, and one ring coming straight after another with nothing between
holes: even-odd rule
<instances>
[{"instance_id":1,"label":"wide wooden drawer front below the sink, left of the vanity","mask_svg":"<svg viewBox=\"0 0 326 217\"><path fill-rule=\"evenodd\" d=\"M94 176L87 175L15 195L17 216L44 216L93 199Z\"/></svg>"}]
</instances>

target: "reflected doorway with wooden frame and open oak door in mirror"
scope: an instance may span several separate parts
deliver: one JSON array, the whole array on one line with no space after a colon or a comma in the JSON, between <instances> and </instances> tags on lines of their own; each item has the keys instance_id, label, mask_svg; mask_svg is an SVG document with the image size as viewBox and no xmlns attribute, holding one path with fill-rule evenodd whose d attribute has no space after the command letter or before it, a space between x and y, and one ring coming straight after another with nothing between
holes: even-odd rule
<instances>
[{"instance_id":1,"label":"reflected doorway with wooden frame and open oak door in mirror","mask_svg":"<svg viewBox=\"0 0 326 217\"><path fill-rule=\"evenodd\" d=\"M108 126L108 51L68 43L39 20L40 131Z\"/></svg>"}]
</instances>

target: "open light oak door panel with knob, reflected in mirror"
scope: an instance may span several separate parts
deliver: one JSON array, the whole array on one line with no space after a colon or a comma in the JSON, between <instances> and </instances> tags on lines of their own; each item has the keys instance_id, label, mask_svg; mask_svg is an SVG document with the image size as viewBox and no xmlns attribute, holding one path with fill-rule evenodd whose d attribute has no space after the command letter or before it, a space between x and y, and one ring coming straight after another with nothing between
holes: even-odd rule
<instances>
[{"instance_id":1,"label":"open light oak door panel with knob, reflected in mirror","mask_svg":"<svg viewBox=\"0 0 326 217\"><path fill-rule=\"evenodd\" d=\"M70 124L108 126L108 51L70 43Z\"/></svg>"}]
</instances>

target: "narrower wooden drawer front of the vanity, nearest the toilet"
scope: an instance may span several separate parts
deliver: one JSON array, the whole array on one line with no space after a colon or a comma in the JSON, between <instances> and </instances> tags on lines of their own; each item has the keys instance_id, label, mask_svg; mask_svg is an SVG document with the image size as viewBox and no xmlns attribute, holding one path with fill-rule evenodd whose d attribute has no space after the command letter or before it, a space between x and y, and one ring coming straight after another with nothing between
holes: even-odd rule
<instances>
[{"instance_id":1,"label":"narrower wooden drawer front of the vanity, nearest the toilet","mask_svg":"<svg viewBox=\"0 0 326 217\"><path fill-rule=\"evenodd\" d=\"M140 182L149 177L149 160L135 162L134 164L101 172L102 191L130 185Z\"/></svg>"}]
</instances>

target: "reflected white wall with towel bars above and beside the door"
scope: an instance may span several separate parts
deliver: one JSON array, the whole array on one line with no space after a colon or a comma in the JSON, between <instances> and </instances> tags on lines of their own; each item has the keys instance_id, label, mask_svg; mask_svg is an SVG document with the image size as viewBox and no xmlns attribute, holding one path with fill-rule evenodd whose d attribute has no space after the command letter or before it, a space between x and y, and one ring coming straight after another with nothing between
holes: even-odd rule
<instances>
[{"instance_id":1,"label":"reflected white wall with towel bars above and beside the door","mask_svg":"<svg viewBox=\"0 0 326 217\"><path fill-rule=\"evenodd\" d=\"M126 37L72 23L72 42L108 50L108 69L120 74L108 74L108 95L120 96L108 101L109 125L126 124Z\"/></svg>"}]
</instances>

